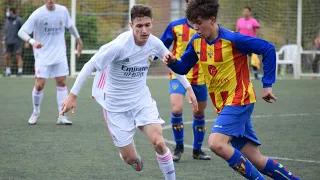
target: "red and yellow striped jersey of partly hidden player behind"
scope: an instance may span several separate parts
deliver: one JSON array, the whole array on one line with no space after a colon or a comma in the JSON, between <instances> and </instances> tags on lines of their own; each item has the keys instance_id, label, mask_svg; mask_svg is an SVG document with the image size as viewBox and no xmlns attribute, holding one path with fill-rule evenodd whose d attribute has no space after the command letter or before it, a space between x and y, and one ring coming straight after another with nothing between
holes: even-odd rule
<instances>
[{"instance_id":1,"label":"red and yellow striped jersey of partly hidden player behind","mask_svg":"<svg viewBox=\"0 0 320 180\"><path fill-rule=\"evenodd\" d=\"M176 58L180 59L194 34L196 34L196 31L191 25L188 24L186 18L182 18L172 21L160 39L167 48L169 48L173 43L172 53ZM197 62L193 68L190 69L190 71L186 74L186 77L190 84L205 83L201 64L199 62ZM176 77L174 74L172 74L172 71L170 71L170 79L175 78Z\"/></svg>"}]
</instances>

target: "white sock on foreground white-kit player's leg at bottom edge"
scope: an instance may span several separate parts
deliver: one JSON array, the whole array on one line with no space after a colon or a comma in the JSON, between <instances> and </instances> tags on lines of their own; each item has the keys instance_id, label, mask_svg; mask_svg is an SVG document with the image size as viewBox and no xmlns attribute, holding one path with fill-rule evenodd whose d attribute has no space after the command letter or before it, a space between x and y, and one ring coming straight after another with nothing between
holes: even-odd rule
<instances>
[{"instance_id":1,"label":"white sock on foreground white-kit player's leg at bottom edge","mask_svg":"<svg viewBox=\"0 0 320 180\"><path fill-rule=\"evenodd\" d=\"M157 160L165 180L175 180L176 172L170 150L167 148L167 152L163 155L157 153Z\"/></svg>"}]
</instances>

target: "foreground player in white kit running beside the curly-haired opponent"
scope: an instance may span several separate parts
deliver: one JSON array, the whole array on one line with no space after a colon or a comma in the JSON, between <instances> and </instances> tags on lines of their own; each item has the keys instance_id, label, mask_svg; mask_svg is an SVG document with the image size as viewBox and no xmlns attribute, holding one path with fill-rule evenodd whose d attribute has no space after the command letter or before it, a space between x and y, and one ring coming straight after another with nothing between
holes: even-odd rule
<instances>
[{"instance_id":1,"label":"foreground player in white kit running beside the curly-haired opponent","mask_svg":"<svg viewBox=\"0 0 320 180\"><path fill-rule=\"evenodd\" d=\"M97 102L104 108L107 126L121 158L136 171L142 170L141 157L136 152L133 136L139 128L148 136L156 151L159 167L166 180L175 180L170 150L162 136L161 119L156 102L146 85L147 72L155 57L169 54L162 41L151 34L152 10L144 5L131 9L133 31L119 35L102 46L82 68L69 96L62 105L62 114L76 106L76 98L91 72L98 71L93 90ZM177 78L187 89L187 98L197 109L197 100L185 76Z\"/></svg>"}]
</instances>

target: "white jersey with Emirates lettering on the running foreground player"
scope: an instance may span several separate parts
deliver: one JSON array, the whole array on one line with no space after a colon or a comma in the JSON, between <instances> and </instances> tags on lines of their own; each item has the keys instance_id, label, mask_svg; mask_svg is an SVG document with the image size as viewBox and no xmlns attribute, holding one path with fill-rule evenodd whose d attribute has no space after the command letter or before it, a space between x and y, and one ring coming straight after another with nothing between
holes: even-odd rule
<instances>
[{"instance_id":1,"label":"white jersey with Emirates lettering on the running foreground player","mask_svg":"<svg viewBox=\"0 0 320 180\"><path fill-rule=\"evenodd\" d=\"M151 103L146 84L149 66L156 56L163 58L167 53L162 41L153 35L144 46L136 45L132 31L102 46L90 60L99 71L93 85L97 102L111 112L124 112Z\"/></svg>"}]
</instances>

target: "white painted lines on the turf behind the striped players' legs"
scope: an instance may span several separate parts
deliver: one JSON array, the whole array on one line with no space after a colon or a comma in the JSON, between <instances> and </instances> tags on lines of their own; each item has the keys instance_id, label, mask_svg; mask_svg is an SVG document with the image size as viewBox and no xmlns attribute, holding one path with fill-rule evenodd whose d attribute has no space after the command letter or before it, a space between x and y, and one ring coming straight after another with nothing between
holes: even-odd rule
<instances>
[{"instance_id":1,"label":"white painted lines on the turf behind the striped players' legs","mask_svg":"<svg viewBox=\"0 0 320 180\"><path fill-rule=\"evenodd\" d=\"M279 115L256 115L252 116L252 118L269 118L269 117L295 117L295 116L314 116L314 115L320 115L320 113L297 113L297 114L279 114ZM206 122L214 122L215 119L208 119ZM183 124L192 124L193 121L186 121L183 122ZM171 125L166 125L162 127L163 130L171 129ZM166 143L175 145L176 142L164 139ZM184 144L184 147L193 149L192 145ZM207 152L211 152L209 148L202 148L202 150L205 150ZM296 161L296 162L306 162L306 163L316 163L320 164L320 161L314 161L314 160L305 160L305 159L291 159L286 157L270 157L272 159L278 159L278 160L284 160L284 161Z\"/></svg>"}]
</instances>

